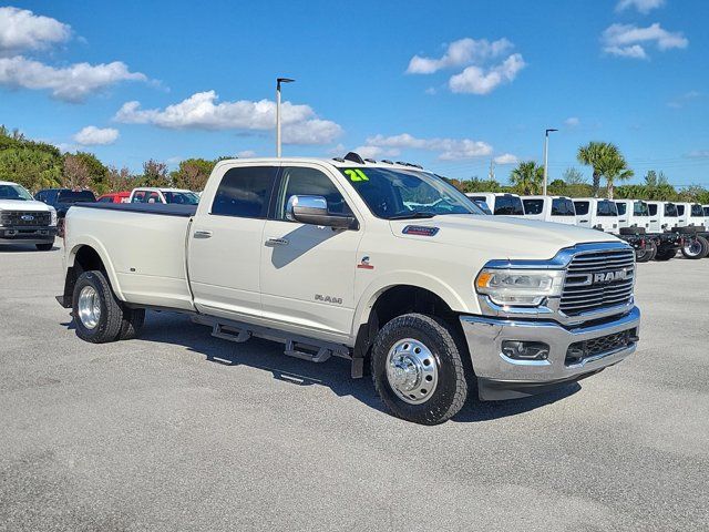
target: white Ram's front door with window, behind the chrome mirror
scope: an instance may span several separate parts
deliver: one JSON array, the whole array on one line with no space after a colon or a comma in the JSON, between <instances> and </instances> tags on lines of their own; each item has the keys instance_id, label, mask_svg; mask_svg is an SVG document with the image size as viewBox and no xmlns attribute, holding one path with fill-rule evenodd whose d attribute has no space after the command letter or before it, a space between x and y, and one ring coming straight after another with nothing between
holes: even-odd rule
<instances>
[{"instance_id":1,"label":"white Ram's front door with window, behind the chrome mirror","mask_svg":"<svg viewBox=\"0 0 709 532\"><path fill-rule=\"evenodd\" d=\"M308 164L280 170L274 216L266 222L261 241L264 319L284 328L349 335L362 229L333 229L286 219L286 204L292 195L323 196L331 214L352 213L346 193L328 172Z\"/></svg>"}]
</instances>

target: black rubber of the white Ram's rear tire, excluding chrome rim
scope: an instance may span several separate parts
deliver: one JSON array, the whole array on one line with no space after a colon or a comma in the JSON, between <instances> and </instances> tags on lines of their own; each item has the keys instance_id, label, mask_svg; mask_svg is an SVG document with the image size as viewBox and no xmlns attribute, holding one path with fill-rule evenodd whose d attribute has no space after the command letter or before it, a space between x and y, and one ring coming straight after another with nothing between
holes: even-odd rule
<instances>
[{"instance_id":1,"label":"black rubber of the white Ram's rear tire, excluding chrome rim","mask_svg":"<svg viewBox=\"0 0 709 532\"><path fill-rule=\"evenodd\" d=\"M79 317L79 296L81 290L86 286L91 286L96 290L101 305L99 324L93 329L84 326ZM76 279L76 284L74 285L72 310L74 315L74 326L76 327L76 336L82 340L91 341L93 344L103 344L116 339L121 329L122 310L102 272L84 272L79 276L79 279Z\"/></svg>"}]
</instances>

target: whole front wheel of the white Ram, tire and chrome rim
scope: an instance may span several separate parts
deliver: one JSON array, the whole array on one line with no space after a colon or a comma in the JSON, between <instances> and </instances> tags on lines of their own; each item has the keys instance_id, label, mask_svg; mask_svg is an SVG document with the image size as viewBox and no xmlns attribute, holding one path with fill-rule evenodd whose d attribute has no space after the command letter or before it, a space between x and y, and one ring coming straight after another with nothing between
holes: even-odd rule
<instances>
[{"instance_id":1,"label":"whole front wheel of the white Ram, tire and chrome rim","mask_svg":"<svg viewBox=\"0 0 709 532\"><path fill-rule=\"evenodd\" d=\"M467 397L458 332L438 318L407 314L389 321L372 347L374 388L397 417L438 424L458 413Z\"/></svg>"}]
</instances>

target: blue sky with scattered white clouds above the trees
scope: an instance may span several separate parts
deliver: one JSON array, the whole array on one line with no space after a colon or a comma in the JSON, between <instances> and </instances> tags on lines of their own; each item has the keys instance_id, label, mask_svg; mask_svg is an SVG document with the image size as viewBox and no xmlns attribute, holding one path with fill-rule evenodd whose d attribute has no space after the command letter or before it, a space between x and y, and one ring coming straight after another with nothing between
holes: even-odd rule
<instances>
[{"instance_id":1,"label":"blue sky with scattered white clouds above the trees","mask_svg":"<svg viewBox=\"0 0 709 532\"><path fill-rule=\"evenodd\" d=\"M600 140L634 181L709 186L705 0L3 6L0 122L115 166L273 155L282 75L285 155L360 149L459 178L496 158L504 182L558 127L552 178Z\"/></svg>"}]
</instances>

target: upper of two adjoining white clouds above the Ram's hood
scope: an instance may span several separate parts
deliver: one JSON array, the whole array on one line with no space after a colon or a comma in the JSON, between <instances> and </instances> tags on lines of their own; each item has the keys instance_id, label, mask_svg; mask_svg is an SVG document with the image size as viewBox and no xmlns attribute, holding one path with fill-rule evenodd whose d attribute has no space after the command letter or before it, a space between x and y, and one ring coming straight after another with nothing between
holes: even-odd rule
<instances>
[{"instance_id":1,"label":"upper of two adjoining white clouds above the Ram's hood","mask_svg":"<svg viewBox=\"0 0 709 532\"><path fill-rule=\"evenodd\" d=\"M512 42L504 38L493 42L487 41L487 39L475 40L465 38L451 42L440 59L414 55L411 58L411 61L409 61L407 73L432 74L442 69L483 63L504 54L511 49Z\"/></svg>"}]
</instances>

